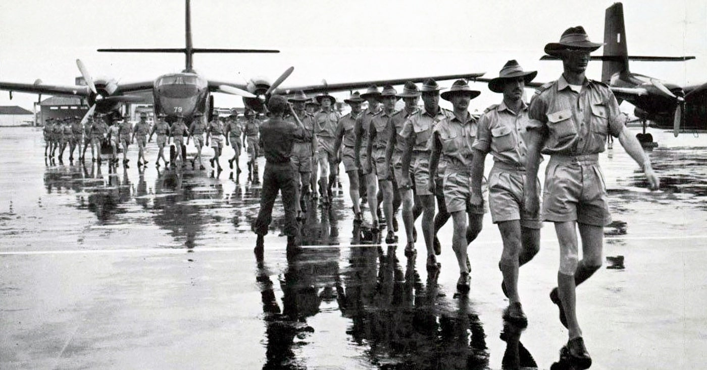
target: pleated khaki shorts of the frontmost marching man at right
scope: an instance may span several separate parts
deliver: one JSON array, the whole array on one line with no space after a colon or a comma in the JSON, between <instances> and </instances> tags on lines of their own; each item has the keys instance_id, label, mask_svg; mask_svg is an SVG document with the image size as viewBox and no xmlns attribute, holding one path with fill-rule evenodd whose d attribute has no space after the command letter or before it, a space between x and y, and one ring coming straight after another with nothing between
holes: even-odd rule
<instances>
[{"instance_id":1,"label":"pleated khaki shorts of the frontmost marching man at right","mask_svg":"<svg viewBox=\"0 0 707 370\"><path fill-rule=\"evenodd\" d=\"M606 226L609 213L604 174L597 155L552 155L545 169L542 219Z\"/></svg>"}]
</instances>

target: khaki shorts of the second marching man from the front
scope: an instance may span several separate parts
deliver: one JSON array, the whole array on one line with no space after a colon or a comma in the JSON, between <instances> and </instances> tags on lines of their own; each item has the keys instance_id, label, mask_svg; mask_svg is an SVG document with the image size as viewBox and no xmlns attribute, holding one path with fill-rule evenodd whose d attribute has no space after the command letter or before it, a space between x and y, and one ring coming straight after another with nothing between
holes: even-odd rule
<instances>
[{"instance_id":1,"label":"khaki shorts of the second marching man from the front","mask_svg":"<svg viewBox=\"0 0 707 370\"><path fill-rule=\"evenodd\" d=\"M496 162L489 174L489 208L491 220L496 224L504 221L520 220L521 227L539 229L542 226L538 212L529 213L523 207L523 187L526 173L522 167ZM537 196L540 196L540 181L537 182Z\"/></svg>"}]
</instances>

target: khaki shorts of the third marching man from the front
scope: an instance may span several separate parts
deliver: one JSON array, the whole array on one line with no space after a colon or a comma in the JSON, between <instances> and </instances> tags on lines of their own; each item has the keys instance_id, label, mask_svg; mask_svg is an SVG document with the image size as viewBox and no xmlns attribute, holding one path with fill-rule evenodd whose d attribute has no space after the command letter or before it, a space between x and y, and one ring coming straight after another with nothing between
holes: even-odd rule
<instances>
[{"instance_id":1,"label":"khaki shorts of the third marching man from the front","mask_svg":"<svg viewBox=\"0 0 707 370\"><path fill-rule=\"evenodd\" d=\"M469 203L472 194L472 177L468 171L448 167L444 174L443 186L444 201L448 213L465 210L474 215L483 215L488 211L485 199L489 190L483 183L481 184L481 199L483 200L481 205Z\"/></svg>"}]
</instances>

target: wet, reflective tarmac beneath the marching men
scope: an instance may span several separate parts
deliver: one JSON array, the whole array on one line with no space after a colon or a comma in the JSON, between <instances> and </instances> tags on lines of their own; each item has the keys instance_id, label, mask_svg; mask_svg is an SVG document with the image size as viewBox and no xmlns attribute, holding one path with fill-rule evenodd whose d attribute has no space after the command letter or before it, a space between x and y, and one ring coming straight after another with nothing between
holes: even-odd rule
<instances>
[{"instance_id":1,"label":"wet, reflective tarmac beneath the marching men","mask_svg":"<svg viewBox=\"0 0 707 370\"><path fill-rule=\"evenodd\" d=\"M614 222L607 263L578 289L592 369L707 364L707 136L653 136L660 191L618 141L600 156ZM566 342L548 298L550 224L520 270L521 330L501 319L490 215L469 247L471 292L458 296L451 222L429 277L422 242L407 258L368 222L354 228L348 191L330 209L310 205L305 248L289 256L278 201L256 261L260 187L230 178L230 148L221 174L206 160L157 170L154 143L144 171L134 147L128 169L53 165L31 128L0 129L0 148L0 369L549 369Z\"/></svg>"}]
</instances>

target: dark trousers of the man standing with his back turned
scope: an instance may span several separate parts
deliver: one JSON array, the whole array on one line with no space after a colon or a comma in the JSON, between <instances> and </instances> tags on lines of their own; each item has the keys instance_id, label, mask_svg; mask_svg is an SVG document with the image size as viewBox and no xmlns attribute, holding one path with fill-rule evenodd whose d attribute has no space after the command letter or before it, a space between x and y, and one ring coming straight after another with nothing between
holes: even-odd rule
<instances>
[{"instance_id":1,"label":"dark trousers of the man standing with his back turned","mask_svg":"<svg viewBox=\"0 0 707 370\"><path fill-rule=\"evenodd\" d=\"M296 227L296 193L295 172L290 162L265 162L263 173L260 211L253 228L258 235L267 234L267 227L272 221L272 206L275 204L277 192L282 192L282 204L285 208L285 234L288 237L298 236Z\"/></svg>"}]
</instances>

